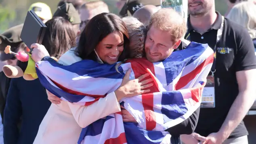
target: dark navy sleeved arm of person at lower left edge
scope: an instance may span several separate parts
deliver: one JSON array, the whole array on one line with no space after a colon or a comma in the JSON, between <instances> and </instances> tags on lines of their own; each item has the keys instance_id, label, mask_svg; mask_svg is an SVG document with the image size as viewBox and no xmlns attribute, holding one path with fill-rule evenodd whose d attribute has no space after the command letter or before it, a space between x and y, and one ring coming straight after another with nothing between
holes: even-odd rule
<instances>
[{"instance_id":1,"label":"dark navy sleeved arm of person at lower left edge","mask_svg":"<svg viewBox=\"0 0 256 144\"><path fill-rule=\"evenodd\" d=\"M19 139L17 124L22 115L22 107L15 80L12 79L10 82L4 109L4 144L17 144Z\"/></svg>"}]
</instances>

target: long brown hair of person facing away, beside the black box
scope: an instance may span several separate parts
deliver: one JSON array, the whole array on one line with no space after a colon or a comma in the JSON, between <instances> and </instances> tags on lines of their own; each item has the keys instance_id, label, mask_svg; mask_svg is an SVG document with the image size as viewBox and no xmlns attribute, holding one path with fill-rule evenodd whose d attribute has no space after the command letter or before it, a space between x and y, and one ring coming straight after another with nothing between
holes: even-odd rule
<instances>
[{"instance_id":1,"label":"long brown hair of person facing away, beside the black box","mask_svg":"<svg viewBox=\"0 0 256 144\"><path fill-rule=\"evenodd\" d=\"M45 23L47 29L42 45L45 46L50 56L57 59L71 47L76 39L72 24L63 17L54 17Z\"/></svg>"}]
</instances>

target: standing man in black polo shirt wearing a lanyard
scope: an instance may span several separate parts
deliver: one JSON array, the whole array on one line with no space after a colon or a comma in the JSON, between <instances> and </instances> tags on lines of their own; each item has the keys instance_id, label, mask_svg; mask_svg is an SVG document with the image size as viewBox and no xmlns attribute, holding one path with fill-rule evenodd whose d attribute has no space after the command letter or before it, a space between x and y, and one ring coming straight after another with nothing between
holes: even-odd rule
<instances>
[{"instance_id":1,"label":"standing man in black polo shirt wearing a lanyard","mask_svg":"<svg viewBox=\"0 0 256 144\"><path fill-rule=\"evenodd\" d=\"M181 138L185 144L199 141L248 144L248 131L242 120L256 96L252 39L246 29L215 12L212 0L188 0L188 8L190 15L185 38L207 43L214 49L215 60L209 76L215 84L212 93L208 93L212 106L201 107L195 133ZM209 97L204 94L202 101Z\"/></svg>"}]
</instances>

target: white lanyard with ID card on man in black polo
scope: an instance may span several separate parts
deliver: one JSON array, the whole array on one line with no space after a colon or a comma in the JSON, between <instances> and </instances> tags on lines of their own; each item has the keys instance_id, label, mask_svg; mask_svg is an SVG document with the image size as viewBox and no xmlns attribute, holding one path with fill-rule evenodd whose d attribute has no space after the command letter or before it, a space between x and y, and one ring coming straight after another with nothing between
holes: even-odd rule
<instances>
[{"instance_id":1,"label":"white lanyard with ID card on man in black polo","mask_svg":"<svg viewBox=\"0 0 256 144\"><path fill-rule=\"evenodd\" d=\"M201 108L214 108L215 107L215 89L214 89L214 73L216 72L216 46L220 41L222 36L222 31L224 27L224 17L222 16L222 22L220 29L217 31L217 40L214 46L214 62L211 68L211 75L207 76L206 86L204 87L204 91L202 94ZM191 41L190 33L186 37L187 40Z\"/></svg>"}]
</instances>

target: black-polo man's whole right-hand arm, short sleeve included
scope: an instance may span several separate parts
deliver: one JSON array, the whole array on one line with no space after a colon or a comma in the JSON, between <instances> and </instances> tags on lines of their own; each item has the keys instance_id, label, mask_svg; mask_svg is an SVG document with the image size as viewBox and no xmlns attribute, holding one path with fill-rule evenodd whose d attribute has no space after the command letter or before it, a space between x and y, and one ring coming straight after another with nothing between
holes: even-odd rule
<instances>
[{"instance_id":1,"label":"black-polo man's whole right-hand arm, short sleeve included","mask_svg":"<svg viewBox=\"0 0 256 144\"><path fill-rule=\"evenodd\" d=\"M237 52L234 65L239 88L237 98L233 102L229 113L217 132L217 139L223 141L239 125L246 116L256 98L256 57L252 39L246 29L237 30ZM211 136L210 136L211 137Z\"/></svg>"}]
</instances>

